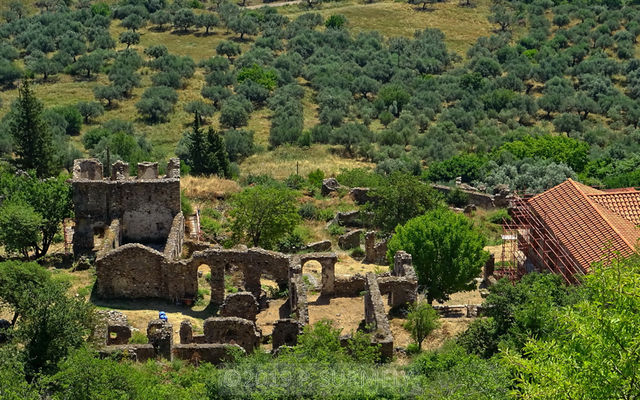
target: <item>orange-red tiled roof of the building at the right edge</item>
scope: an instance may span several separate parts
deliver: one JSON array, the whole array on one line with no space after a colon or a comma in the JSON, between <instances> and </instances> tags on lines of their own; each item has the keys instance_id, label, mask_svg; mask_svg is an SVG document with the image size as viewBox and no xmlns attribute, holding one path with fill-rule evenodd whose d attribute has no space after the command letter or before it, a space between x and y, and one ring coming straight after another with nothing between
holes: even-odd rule
<instances>
[{"instance_id":1,"label":"orange-red tiled roof of the building at the right edge","mask_svg":"<svg viewBox=\"0 0 640 400\"><path fill-rule=\"evenodd\" d=\"M640 239L632 222L640 218L640 192L605 193L569 179L528 203L585 271L607 251L632 254Z\"/></svg>"}]
</instances>

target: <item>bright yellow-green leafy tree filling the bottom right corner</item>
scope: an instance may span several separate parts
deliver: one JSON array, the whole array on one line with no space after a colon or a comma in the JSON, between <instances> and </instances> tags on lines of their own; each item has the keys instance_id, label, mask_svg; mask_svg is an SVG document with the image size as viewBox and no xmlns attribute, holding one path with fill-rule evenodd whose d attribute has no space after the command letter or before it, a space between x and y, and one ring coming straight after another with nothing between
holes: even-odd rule
<instances>
[{"instance_id":1,"label":"bright yellow-green leafy tree filling the bottom right corner","mask_svg":"<svg viewBox=\"0 0 640 400\"><path fill-rule=\"evenodd\" d=\"M635 256L594 265L585 277L585 299L558 309L554 334L529 341L526 357L506 354L517 395L623 399L638 393L639 265Z\"/></svg>"}]
</instances>

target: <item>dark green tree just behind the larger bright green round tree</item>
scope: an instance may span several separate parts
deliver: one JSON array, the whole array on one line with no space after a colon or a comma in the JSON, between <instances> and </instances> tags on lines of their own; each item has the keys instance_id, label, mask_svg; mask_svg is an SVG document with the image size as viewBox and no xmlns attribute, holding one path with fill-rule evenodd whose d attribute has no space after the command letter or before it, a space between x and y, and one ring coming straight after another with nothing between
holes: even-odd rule
<instances>
[{"instance_id":1,"label":"dark green tree just behind the larger bright green round tree","mask_svg":"<svg viewBox=\"0 0 640 400\"><path fill-rule=\"evenodd\" d=\"M395 172L370 192L373 222L387 232L436 206L438 195L415 176Z\"/></svg>"}]
</instances>

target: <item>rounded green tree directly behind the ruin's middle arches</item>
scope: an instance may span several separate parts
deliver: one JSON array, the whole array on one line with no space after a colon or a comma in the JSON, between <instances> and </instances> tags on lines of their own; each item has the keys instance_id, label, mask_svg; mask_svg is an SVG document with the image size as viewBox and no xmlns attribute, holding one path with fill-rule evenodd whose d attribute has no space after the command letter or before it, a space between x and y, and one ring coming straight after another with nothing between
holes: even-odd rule
<instances>
[{"instance_id":1,"label":"rounded green tree directly behind the ruin's middle arches","mask_svg":"<svg viewBox=\"0 0 640 400\"><path fill-rule=\"evenodd\" d=\"M294 192L270 186L249 187L232 199L231 231L238 241L271 248L300 222Z\"/></svg>"}]
</instances>

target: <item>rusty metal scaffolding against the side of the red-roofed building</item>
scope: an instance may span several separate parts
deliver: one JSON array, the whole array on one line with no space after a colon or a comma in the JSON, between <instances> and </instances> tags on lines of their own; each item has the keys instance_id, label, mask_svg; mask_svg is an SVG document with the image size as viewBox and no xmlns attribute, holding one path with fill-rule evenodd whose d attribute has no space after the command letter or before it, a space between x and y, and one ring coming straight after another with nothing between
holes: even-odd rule
<instances>
[{"instance_id":1,"label":"rusty metal scaffolding against the side of the red-roofed building","mask_svg":"<svg viewBox=\"0 0 640 400\"><path fill-rule=\"evenodd\" d=\"M519 280L534 270L550 271L568 283L577 283L584 270L545 223L546 216L530 206L530 196L515 195L509 208L510 219L503 221L502 263L496 274Z\"/></svg>"}]
</instances>

